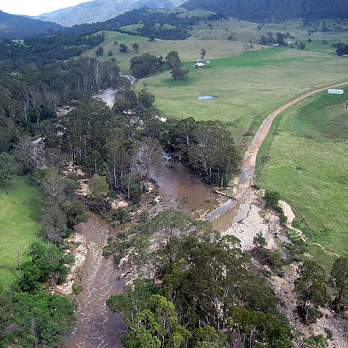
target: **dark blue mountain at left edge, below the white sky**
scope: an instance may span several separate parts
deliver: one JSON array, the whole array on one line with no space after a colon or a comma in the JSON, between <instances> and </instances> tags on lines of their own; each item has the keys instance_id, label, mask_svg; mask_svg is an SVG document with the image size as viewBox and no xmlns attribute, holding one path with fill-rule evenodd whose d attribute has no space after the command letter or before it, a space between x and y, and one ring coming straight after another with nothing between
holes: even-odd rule
<instances>
[{"instance_id":1,"label":"dark blue mountain at left edge, below the white sky","mask_svg":"<svg viewBox=\"0 0 348 348\"><path fill-rule=\"evenodd\" d=\"M0 10L0 38L26 38L47 33L49 28L59 31L64 27L52 22L42 22L24 16L10 15Z\"/></svg>"}]
</instances>

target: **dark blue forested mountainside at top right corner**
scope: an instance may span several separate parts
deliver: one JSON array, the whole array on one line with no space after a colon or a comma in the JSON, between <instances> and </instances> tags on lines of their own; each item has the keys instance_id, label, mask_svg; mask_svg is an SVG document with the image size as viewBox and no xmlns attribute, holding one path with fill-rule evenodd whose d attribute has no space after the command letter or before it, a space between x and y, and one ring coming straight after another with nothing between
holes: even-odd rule
<instances>
[{"instance_id":1,"label":"dark blue forested mountainside at top right corner","mask_svg":"<svg viewBox=\"0 0 348 348\"><path fill-rule=\"evenodd\" d=\"M189 0L182 7L224 13L250 22L285 22L299 17L348 18L348 3L341 0Z\"/></svg>"}]
</instances>

